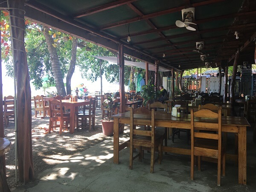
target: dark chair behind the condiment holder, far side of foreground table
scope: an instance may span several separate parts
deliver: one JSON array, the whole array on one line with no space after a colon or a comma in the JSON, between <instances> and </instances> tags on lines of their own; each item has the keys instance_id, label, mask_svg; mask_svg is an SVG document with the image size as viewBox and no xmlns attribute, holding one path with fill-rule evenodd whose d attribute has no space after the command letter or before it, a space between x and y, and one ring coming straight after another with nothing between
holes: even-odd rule
<instances>
[{"instance_id":1,"label":"dark chair behind the condiment holder, far side of foreground table","mask_svg":"<svg viewBox=\"0 0 256 192\"><path fill-rule=\"evenodd\" d=\"M184 113L185 114L188 113L188 111L189 111L188 102L186 102L186 101L172 102L172 108L175 107L175 105L180 105L180 108L183 108ZM180 139L180 132L186 132L186 140L187 140L187 144L189 145L189 137L190 137L190 130L189 129L172 128L172 143L174 143L175 135L177 135L178 139Z\"/></svg>"}]
</instances>

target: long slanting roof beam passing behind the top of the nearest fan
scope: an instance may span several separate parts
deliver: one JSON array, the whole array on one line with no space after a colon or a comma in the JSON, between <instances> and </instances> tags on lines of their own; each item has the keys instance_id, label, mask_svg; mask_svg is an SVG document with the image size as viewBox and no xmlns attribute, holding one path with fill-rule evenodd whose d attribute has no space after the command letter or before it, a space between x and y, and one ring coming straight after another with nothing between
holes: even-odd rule
<instances>
[{"instance_id":1,"label":"long slanting roof beam passing behind the top of the nearest fan","mask_svg":"<svg viewBox=\"0 0 256 192\"><path fill-rule=\"evenodd\" d=\"M200 3L193 3L192 6L193 7L204 6L204 5L209 5L209 4L217 3L217 2L221 2L221 1L225 1L225 0L207 0L207 1L200 2ZM132 19L122 20L122 21L119 21L119 22L116 22L116 23L111 23L109 25L100 27L99 30L109 29L109 28L112 28L112 27L125 25L126 23L132 23L132 22L135 22L135 21L138 21L138 20L145 20L145 19L149 19L149 18L152 18L152 17L160 16L160 15L166 15L166 14L169 14L169 13L178 12L178 11L181 11L182 9L186 9L187 8L186 6L187 5L180 6L180 7L175 7L175 8L172 8L172 9L167 9L167 10L164 10L164 11L151 13L151 14L144 15L144 16L141 16L141 17L134 17Z\"/></svg>"}]
</instances>

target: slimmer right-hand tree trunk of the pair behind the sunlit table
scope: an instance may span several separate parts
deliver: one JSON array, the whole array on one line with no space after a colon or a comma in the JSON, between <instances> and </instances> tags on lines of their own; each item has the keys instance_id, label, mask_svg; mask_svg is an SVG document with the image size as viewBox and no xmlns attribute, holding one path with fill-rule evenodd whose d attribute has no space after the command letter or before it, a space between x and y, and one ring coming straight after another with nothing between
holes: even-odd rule
<instances>
[{"instance_id":1,"label":"slimmer right-hand tree trunk of the pair behind the sunlit table","mask_svg":"<svg viewBox=\"0 0 256 192\"><path fill-rule=\"evenodd\" d=\"M73 76L73 73L74 73L75 67L76 67L77 44L78 44L77 38L74 37L73 41L72 41L70 68L67 72L67 77L66 77L67 95L71 94L71 78Z\"/></svg>"}]
</instances>

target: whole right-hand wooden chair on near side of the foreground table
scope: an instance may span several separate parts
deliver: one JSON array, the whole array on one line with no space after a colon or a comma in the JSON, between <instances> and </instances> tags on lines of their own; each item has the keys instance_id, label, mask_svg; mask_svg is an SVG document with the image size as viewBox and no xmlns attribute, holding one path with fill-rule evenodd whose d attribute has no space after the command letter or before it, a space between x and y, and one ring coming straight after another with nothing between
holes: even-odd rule
<instances>
[{"instance_id":1,"label":"whole right-hand wooden chair on near side of the foreground table","mask_svg":"<svg viewBox=\"0 0 256 192\"><path fill-rule=\"evenodd\" d=\"M195 118L205 119L198 122ZM217 133L200 131L217 131ZM222 174L225 176L226 150L221 145L221 109L215 113L209 109L201 109L194 112L191 109L191 173L190 179L194 180L194 156L198 157L198 171L201 171L201 156L218 159L217 184L221 184L221 160Z\"/></svg>"}]
</instances>

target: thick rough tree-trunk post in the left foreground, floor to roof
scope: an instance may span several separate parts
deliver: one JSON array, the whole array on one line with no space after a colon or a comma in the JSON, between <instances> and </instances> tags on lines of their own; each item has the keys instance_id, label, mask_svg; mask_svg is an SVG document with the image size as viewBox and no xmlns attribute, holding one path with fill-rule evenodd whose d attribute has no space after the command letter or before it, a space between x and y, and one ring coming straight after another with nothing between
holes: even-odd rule
<instances>
[{"instance_id":1,"label":"thick rough tree-trunk post in the left foreground, floor to roof","mask_svg":"<svg viewBox=\"0 0 256 192\"><path fill-rule=\"evenodd\" d=\"M12 56L17 71L17 160L19 179L24 184L34 180L32 157L31 90L24 46L24 0L9 0L12 32ZM14 17L11 17L13 15ZM17 27L16 27L17 26Z\"/></svg>"}]
</instances>

